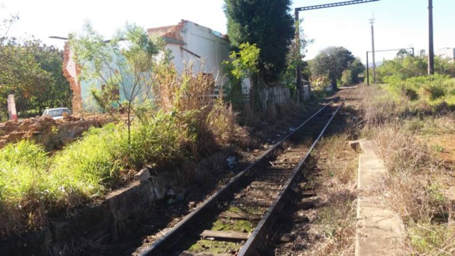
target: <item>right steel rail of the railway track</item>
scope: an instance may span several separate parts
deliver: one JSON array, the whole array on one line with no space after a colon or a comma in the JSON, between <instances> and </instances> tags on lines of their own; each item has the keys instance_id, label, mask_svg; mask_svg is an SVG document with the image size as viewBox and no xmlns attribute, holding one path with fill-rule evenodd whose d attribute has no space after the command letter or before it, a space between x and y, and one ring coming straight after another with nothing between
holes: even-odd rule
<instances>
[{"instance_id":1,"label":"right steel rail of the railway track","mask_svg":"<svg viewBox=\"0 0 455 256\"><path fill-rule=\"evenodd\" d=\"M242 249L239 251L237 256L249 256L254 253L256 250L258 244L260 241L265 241L265 235L266 231L268 228L270 228L273 223L276 220L277 213L281 211L283 208L283 201L286 199L286 196L290 192L290 190L296 185L298 180L300 179L302 175L302 167L307 161L308 157L310 156L311 151L313 148L316 146L316 144L319 142L321 139L322 135L326 131L326 129L329 127L331 121L335 117L335 115L338 113L338 110L344 105L347 97L351 94L351 92L344 98L343 102L338 106L338 108L335 110L335 112L332 114L330 120L327 122L326 126L322 129L321 133L319 133L319 136L316 138L316 140L313 142L311 145L310 149L308 150L307 154L305 155L302 160L300 160L299 164L294 168L294 170L291 173L291 177L289 180L285 183L284 187L280 190L278 196L275 198L275 200L272 202L271 206L267 210L267 212L263 215L261 220L259 221L258 225L253 229L251 232L251 235L249 236L248 240L245 242L245 245L242 247Z\"/></svg>"}]
</instances>

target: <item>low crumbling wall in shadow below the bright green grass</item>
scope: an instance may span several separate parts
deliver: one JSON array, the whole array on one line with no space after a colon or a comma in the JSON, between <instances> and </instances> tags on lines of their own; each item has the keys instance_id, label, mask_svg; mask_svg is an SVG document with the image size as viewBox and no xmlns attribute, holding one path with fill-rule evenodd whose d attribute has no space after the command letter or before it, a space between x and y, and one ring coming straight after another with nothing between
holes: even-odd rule
<instances>
[{"instance_id":1,"label":"low crumbling wall in shadow below the bright green grass","mask_svg":"<svg viewBox=\"0 0 455 256\"><path fill-rule=\"evenodd\" d=\"M115 239L128 218L152 205L154 191L150 180L133 182L101 202L50 220L42 230L0 239L0 255L74 255L84 241Z\"/></svg>"}]
</instances>

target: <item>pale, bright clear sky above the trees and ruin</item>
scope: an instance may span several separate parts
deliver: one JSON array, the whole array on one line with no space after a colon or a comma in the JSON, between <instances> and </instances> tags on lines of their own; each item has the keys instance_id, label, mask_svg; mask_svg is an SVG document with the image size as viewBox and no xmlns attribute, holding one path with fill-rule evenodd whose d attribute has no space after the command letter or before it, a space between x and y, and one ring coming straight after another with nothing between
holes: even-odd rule
<instances>
[{"instance_id":1,"label":"pale, bright clear sky above the trees and ruin","mask_svg":"<svg viewBox=\"0 0 455 256\"><path fill-rule=\"evenodd\" d=\"M341 0L294 0L293 8ZM11 35L35 35L47 44L62 47L62 41L49 36L66 36L82 28L84 19L105 37L125 21L145 28L176 24L188 19L226 33L224 0L0 0L0 17L19 13L20 20ZM328 46L344 46L365 59L371 50L369 19L374 11L376 50L409 47L428 51L427 0L380 0L372 3L302 12L302 26L314 43L307 58ZM435 49L455 47L455 0L434 0ZM377 54L377 60L395 53Z\"/></svg>"}]
</instances>

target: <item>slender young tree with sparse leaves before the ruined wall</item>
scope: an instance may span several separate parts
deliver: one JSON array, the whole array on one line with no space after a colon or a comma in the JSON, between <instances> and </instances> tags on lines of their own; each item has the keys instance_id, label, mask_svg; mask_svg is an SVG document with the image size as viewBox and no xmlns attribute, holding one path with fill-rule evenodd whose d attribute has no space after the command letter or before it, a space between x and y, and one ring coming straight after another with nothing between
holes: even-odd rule
<instances>
[{"instance_id":1,"label":"slender young tree with sparse leaves before the ruined wall","mask_svg":"<svg viewBox=\"0 0 455 256\"><path fill-rule=\"evenodd\" d=\"M91 94L104 111L117 120L126 113L130 142L136 112L150 100L154 57L164 44L154 43L143 28L131 24L107 41L88 22L84 30L83 36L70 35L83 79L93 81L95 88Z\"/></svg>"}]
</instances>

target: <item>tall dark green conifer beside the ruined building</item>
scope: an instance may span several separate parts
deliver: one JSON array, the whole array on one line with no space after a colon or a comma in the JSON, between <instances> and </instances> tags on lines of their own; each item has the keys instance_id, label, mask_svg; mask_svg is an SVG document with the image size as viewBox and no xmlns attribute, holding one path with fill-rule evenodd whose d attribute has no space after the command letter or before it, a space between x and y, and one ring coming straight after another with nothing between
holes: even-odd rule
<instances>
[{"instance_id":1,"label":"tall dark green conifer beside the ruined building","mask_svg":"<svg viewBox=\"0 0 455 256\"><path fill-rule=\"evenodd\" d=\"M294 35L290 0L225 0L228 36L234 46L255 44L260 50L259 81L274 82L286 68Z\"/></svg>"}]
</instances>

